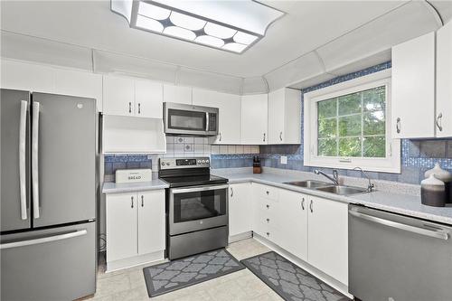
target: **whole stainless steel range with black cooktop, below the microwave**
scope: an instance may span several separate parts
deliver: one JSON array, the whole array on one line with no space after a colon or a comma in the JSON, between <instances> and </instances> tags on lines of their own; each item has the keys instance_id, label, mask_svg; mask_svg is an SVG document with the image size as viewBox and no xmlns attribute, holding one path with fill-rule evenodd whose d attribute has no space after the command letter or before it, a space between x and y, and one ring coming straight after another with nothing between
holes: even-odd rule
<instances>
[{"instance_id":1,"label":"whole stainless steel range with black cooktop, below the microwave","mask_svg":"<svg viewBox=\"0 0 452 301\"><path fill-rule=\"evenodd\" d=\"M161 158L167 255L179 259L228 244L228 180L210 174L209 157Z\"/></svg>"}]
</instances>

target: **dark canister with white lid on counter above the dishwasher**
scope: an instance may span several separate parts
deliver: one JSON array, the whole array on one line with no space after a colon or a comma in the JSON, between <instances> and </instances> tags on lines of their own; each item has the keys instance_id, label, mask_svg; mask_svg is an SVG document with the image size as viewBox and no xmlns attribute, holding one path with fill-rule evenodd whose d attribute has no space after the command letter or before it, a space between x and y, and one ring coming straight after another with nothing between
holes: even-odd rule
<instances>
[{"instance_id":1,"label":"dark canister with white lid on counter above the dishwasher","mask_svg":"<svg viewBox=\"0 0 452 301\"><path fill-rule=\"evenodd\" d=\"M420 202L424 205L444 207L446 205L446 185L430 174L420 183Z\"/></svg>"}]
</instances>

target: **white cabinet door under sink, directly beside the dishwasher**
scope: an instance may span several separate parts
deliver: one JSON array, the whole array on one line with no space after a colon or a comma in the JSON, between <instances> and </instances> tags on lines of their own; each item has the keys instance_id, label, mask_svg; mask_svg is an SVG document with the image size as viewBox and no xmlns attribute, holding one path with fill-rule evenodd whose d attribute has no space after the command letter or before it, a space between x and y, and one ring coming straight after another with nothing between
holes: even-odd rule
<instances>
[{"instance_id":1,"label":"white cabinet door under sink, directly beside the dishwasher","mask_svg":"<svg viewBox=\"0 0 452 301\"><path fill-rule=\"evenodd\" d=\"M317 197L308 204L307 262L348 283L348 205Z\"/></svg>"}]
</instances>

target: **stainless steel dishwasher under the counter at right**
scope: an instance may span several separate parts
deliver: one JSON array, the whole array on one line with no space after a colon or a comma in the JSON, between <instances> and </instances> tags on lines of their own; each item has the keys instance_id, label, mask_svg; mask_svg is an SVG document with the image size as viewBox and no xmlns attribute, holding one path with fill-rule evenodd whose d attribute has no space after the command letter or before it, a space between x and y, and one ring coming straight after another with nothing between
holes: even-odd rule
<instances>
[{"instance_id":1,"label":"stainless steel dishwasher under the counter at right","mask_svg":"<svg viewBox=\"0 0 452 301\"><path fill-rule=\"evenodd\" d=\"M363 301L452 300L452 227L349 206L349 292Z\"/></svg>"}]
</instances>

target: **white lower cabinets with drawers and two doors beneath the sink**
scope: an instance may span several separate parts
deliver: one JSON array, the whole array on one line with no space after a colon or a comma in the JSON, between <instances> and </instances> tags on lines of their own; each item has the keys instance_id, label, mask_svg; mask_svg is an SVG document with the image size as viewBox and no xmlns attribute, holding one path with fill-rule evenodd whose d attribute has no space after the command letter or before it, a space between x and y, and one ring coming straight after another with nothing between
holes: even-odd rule
<instances>
[{"instance_id":1,"label":"white lower cabinets with drawers and two doors beneath the sink","mask_svg":"<svg viewBox=\"0 0 452 301\"><path fill-rule=\"evenodd\" d=\"M251 186L253 232L347 285L348 205L259 183Z\"/></svg>"}]
</instances>

